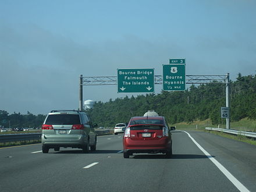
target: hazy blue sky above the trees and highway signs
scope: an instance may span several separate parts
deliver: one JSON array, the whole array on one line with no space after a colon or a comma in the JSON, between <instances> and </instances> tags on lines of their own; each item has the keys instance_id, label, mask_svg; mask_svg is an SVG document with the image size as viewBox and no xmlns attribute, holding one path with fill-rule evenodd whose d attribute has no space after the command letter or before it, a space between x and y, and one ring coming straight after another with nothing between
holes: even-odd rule
<instances>
[{"instance_id":1,"label":"hazy blue sky above the trees and highway signs","mask_svg":"<svg viewBox=\"0 0 256 192\"><path fill-rule=\"evenodd\" d=\"M0 110L77 109L80 74L162 74L169 58L186 58L186 74L255 74L255 9L253 0L0 0ZM132 95L117 92L84 86L83 99Z\"/></svg>"}]
</instances>

